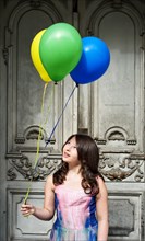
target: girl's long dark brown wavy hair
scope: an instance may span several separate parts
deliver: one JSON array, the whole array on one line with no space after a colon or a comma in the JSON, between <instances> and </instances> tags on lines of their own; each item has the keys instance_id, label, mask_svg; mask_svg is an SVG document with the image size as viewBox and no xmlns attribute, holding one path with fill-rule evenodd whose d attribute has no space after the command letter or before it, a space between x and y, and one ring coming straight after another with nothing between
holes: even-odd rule
<instances>
[{"instance_id":1,"label":"girl's long dark brown wavy hair","mask_svg":"<svg viewBox=\"0 0 145 241\"><path fill-rule=\"evenodd\" d=\"M74 134L70 136L68 140L64 142L63 147L73 137L76 140L76 149L78 160L81 162L80 171L83 177L82 187L84 188L85 193L96 195L99 193L99 187L96 177L102 177L98 171L99 149L95 140L90 136L84 134ZM53 174L55 185L59 185L64 182L68 170L68 163L62 161L61 168Z\"/></svg>"}]
</instances>

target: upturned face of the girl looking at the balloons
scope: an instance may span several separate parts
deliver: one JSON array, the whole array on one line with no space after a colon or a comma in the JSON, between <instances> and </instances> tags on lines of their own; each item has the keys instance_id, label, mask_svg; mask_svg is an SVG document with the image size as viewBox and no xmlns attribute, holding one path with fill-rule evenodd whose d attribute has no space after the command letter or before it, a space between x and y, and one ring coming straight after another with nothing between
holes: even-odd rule
<instances>
[{"instance_id":1,"label":"upturned face of the girl looking at the balloons","mask_svg":"<svg viewBox=\"0 0 145 241\"><path fill-rule=\"evenodd\" d=\"M75 137L70 139L62 149L62 160L69 164L80 164Z\"/></svg>"}]
</instances>

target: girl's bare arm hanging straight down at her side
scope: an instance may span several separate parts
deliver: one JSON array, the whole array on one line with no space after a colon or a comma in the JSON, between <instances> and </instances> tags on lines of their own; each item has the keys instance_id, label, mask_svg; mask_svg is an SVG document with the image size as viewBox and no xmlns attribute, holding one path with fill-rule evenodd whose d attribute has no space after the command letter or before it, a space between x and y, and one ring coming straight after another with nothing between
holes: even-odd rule
<instances>
[{"instance_id":1,"label":"girl's bare arm hanging straight down at her side","mask_svg":"<svg viewBox=\"0 0 145 241\"><path fill-rule=\"evenodd\" d=\"M98 241L107 241L108 239L108 193L105 182L101 177L97 177L99 185L99 194L96 199L97 219L98 219Z\"/></svg>"}]
</instances>

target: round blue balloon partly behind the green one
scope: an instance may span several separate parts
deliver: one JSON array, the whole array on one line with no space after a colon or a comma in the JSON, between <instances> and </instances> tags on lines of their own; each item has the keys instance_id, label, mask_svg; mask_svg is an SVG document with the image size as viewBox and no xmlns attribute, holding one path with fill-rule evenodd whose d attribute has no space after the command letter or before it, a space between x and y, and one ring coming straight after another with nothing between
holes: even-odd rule
<instances>
[{"instance_id":1,"label":"round blue balloon partly behind the green one","mask_svg":"<svg viewBox=\"0 0 145 241\"><path fill-rule=\"evenodd\" d=\"M100 38L82 38L83 53L76 67L70 72L71 78L81 84L90 83L100 78L109 67L110 51Z\"/></svg>"}]
</instances>

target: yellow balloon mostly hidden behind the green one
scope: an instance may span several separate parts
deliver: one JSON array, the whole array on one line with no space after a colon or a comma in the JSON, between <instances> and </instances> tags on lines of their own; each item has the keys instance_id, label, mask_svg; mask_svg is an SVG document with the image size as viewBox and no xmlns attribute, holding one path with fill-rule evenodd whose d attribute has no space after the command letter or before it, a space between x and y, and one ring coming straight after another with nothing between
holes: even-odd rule
<instances>
[{"instance_id":1,"label":"yellow balloon mostly hidden behind the green one","mask_svg":"<svg viewBox=\"0 0 145 241\"><path fill-rule=\"evenodd\" d=\"M47 71L45 70L45 68L41 64L41 60L40 60L40 56L39 56L39 42L40 42L40 38L41 38L43 34L45 33L45 31L46 30L40 31L34 37L34 39L32 42L32 46L31 46L31 56L32 56L33 64L34 64L36 70L38 71L40 78L45 82L49 82L49 81L51 81L51 79L50 79L49 74L47 73Z\"/></svg>"}]
</instances>

